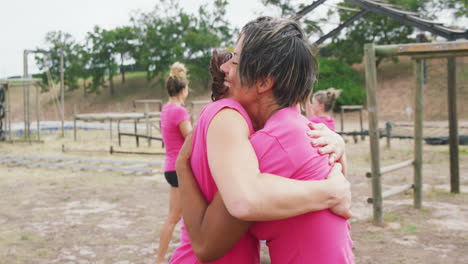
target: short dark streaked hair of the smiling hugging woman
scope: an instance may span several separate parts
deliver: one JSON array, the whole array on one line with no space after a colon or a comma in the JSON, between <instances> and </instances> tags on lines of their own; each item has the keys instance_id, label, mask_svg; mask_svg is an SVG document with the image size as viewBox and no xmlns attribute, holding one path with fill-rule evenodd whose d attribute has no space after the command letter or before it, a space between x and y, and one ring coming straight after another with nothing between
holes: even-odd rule
<instances>
[{"instance_id":1,"label":"short dark streaked hair of the smiling hugging woman","mask_svg":"<svg viewBox=\"0 0 468 264\"><path fill-rule=\"evenodd\" d=\"M247 23L237 71L241 84L252 87L273 78L273 94L281 107L303 103L318 72L314 46L292 19L259 17Z\"/></svg>"}]
</instances>

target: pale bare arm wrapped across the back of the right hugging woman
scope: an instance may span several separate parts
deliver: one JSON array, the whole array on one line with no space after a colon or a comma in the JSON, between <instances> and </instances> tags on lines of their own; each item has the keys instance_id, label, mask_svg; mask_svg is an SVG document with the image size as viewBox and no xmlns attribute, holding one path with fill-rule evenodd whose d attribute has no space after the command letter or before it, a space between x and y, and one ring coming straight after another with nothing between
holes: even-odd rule
<instances>
[{"instance_id":1,"label":"pale bare arm wrapped across the back of the right hugging woman","mask_svg":"<svg viewBox=\"0 0 468 264\"><path fill-rule=\"evenodd\" d=\"M276 220L331 208L345 199L349 182L343 177L336 177L333 182L298 181L260 173L248 136L247 123L231 109L220 111L208 128L210 170L234 217Z\"/></svg>"}]
</instances>

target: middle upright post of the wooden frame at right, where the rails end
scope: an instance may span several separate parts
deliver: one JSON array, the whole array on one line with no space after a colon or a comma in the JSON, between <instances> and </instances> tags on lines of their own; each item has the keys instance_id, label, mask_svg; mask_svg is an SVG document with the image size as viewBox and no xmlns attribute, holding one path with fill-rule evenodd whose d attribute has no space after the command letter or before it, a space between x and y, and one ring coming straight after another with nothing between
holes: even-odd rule
<instances>
[{"instance_id":1,"label":"middle upright post of the wooden frame at right, where the rails end","mask_svg":"<svg viewBox=\"0 0 468 264\"><path fill-rule=\"evenodd\" d=\"M421 59L414 63L416 92L414 95L414 208L422 205L422 144L423 144L423 64Z\"/></svg>"}]
</instances>

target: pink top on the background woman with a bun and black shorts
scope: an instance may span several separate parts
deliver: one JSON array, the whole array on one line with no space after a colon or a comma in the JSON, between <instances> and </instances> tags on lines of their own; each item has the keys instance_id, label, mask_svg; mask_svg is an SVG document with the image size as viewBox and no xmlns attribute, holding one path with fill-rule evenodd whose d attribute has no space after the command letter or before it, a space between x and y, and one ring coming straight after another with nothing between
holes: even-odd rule
<instances>
[{"instance_id":1,"label":"pink top on the background woman with a bun and black shorts","mask_svg":"<svg viewBox=\"0 0 468 264\"><path fill-rule=\"evenodd\" d=\"M164 160L164 172L175 171L175 161L184 144L184 136L179 129L182 121L190 122L190 115L185 107L175 104L165 104L161 110L161 134L166 158Z\"/></svg>"}]
</instances>

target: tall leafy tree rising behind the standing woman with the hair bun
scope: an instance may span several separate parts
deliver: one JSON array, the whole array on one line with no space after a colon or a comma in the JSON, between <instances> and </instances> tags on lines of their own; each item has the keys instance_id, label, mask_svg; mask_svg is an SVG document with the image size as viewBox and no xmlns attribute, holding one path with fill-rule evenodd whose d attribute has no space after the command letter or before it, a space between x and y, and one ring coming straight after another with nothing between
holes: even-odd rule
<instances>
[{"instance_id":1,"label":"tall leafy tree rising behind the standing woman with the hair bun","mask_svg":"<svg viewBox=\"0 0 468 264\"><path fill-rule=\"evenodd\" d=\"M151 12L133 18L139 28L135 59L147 70L148 80L167 72L175 61L182 61L191 79L208 87L211 51L232 39L225 18L227 4L226 0L215 0L213 8L200 7L198 14L192 15L175 0L161 1Z\"/></svg>"}]
</instances>

